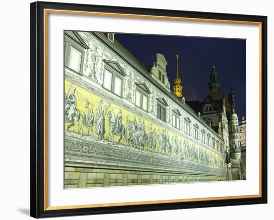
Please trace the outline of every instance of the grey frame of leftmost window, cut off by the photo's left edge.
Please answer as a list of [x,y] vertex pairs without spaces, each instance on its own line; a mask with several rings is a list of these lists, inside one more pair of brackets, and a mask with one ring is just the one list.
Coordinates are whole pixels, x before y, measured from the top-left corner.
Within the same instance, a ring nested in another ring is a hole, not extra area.
[[[64,66],[70,69],[71,71],[73,71],[74,73],[77,73],[82,76],[83,66],[84,66],[84,57],[85,57],[85,48],[82,45],[80,45],[78,42],[76,42],[73,38],[69,37],[68,35],[65,34],[64,36],[65,36],[64,37]],[[74,49],[78,50],[82,54],[79,72],[69,67],[71,47],[74,47]]]

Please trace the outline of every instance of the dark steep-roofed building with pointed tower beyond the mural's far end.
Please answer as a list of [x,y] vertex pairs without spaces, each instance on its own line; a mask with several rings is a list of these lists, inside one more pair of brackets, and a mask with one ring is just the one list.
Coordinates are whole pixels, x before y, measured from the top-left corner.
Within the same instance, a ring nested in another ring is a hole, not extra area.
[[227,155],[227,179],[243,179],[241,163],[241,144],[239,134],[238,115],[235,111],[234,91],[223,94],[216,67],[213,64],[208,83],[208,94],[203,102],[188,101],[187,104],[196,112],[201,112],[201,117],[211,127],[222,135],[224,151]]

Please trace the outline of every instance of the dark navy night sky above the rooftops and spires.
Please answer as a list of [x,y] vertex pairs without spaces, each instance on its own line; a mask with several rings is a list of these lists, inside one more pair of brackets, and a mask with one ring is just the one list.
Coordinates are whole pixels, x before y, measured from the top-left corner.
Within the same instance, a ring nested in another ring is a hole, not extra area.
[[221,92],[230,93],[233,87],[239,120],[246,116],[246,40],[141,34],[115,34],[115,38],[145,66],[153,64],[156,53],[163,54],[171,89],[178,53],[186,101],[205,99],[214,60]]

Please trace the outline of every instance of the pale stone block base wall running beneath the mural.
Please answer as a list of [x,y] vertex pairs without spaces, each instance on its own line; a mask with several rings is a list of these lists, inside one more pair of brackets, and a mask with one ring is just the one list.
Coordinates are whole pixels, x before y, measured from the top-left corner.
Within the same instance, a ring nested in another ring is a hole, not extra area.
[[65,189],[224,181],[225,176],[65,166]]

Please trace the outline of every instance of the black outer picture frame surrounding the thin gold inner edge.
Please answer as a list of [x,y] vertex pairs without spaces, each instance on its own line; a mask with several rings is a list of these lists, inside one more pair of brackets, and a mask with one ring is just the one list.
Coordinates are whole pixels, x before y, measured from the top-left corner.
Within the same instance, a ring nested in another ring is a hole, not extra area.
[[[44,211],[44,9],[126,13],[140,15],[205,18],[261,22],[262,24],[262,197],[228,200],[178,202],[118,207]],[[223,14],[89,5],[58,2],[30,4],[30,216],[34,218],[174,210],[267,203],[267,16]]]

